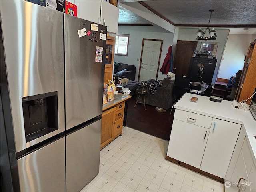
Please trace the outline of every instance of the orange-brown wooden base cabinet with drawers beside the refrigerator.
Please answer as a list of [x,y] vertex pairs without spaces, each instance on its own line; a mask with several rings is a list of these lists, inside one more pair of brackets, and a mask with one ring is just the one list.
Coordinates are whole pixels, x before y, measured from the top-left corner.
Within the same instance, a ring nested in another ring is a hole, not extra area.
[[122,101],[103,111],[100,149],[122,134],[124,105],[125,102]]

